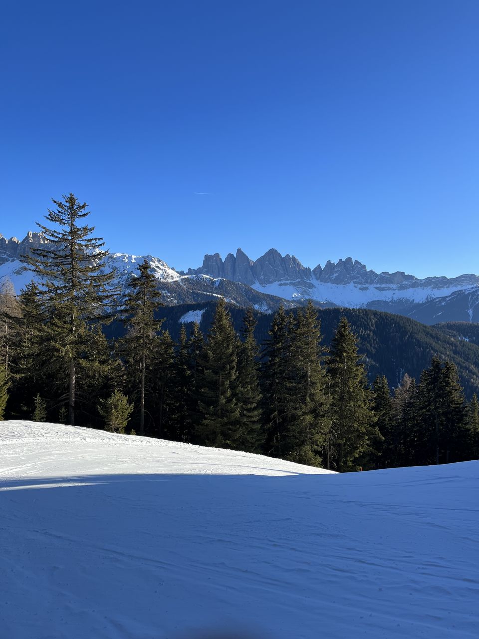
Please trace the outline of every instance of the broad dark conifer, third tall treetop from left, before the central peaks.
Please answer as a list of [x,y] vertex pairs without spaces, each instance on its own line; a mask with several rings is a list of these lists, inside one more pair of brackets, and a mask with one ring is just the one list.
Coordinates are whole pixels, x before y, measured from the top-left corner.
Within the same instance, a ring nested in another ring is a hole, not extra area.
[[223,298],[201,357],[196,429],[199,443],[220,448],[236,448],[239,438],[239,406],[236,394],[238,339]]

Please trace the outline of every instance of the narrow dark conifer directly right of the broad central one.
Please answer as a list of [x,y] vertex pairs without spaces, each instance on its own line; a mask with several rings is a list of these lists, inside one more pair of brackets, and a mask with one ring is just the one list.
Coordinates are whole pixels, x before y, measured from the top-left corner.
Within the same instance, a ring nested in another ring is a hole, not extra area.
[[239,450],[259,452],[264,441],[262,433],[261,391],[259,389],[259,348],[254,337],[256,319],[251,308],[243,317],[241,334],[243,342],[238,346],[238,378],[236,387],[239,403]]

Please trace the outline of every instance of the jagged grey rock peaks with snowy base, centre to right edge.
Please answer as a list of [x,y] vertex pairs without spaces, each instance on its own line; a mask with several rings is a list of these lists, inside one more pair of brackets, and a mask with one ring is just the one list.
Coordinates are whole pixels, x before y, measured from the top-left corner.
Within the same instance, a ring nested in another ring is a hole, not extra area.
[[428,324],[446,319],[479,321],[479,276],[473,274],[418,279],[402,271],[376,273],[351,258],[310,269],[276,249],[255,261],[241,249],[224,261],[218,253],[206,255],[202,266],[188,273],[243,282],[285,300],[390,311]]

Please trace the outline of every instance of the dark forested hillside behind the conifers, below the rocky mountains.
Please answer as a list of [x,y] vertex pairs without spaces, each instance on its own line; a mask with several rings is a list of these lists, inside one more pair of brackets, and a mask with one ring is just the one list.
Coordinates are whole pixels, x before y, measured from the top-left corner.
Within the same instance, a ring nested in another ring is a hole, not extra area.
[[[180,319],[192,311],[204,311],[198,317],[201,316],[202,332],[208,332],[215,307],[215,302],[160,307],[157,317],[164,320],[163,330],[168,330],[176,340],[182,325]],[[239,331],[244,309],[229,305],[229,312],[234,328]],[[291,312],[295,314],[297,309]],[[414,319],[383,311],[322,309],[318,317],[326,346],[331,344],[342,316],[347,318],[358,336],[359,351],[365,356],[364,363],[371,382],[377,374],[385,375],[392,388],[399,384],[404,373],[419,379],[422,370],[436,356],[442,360],[450,360],[457,366],[468,399],[479,392],[479,325],[454,322],[431,327]],[[255,317],[255,339],[262,344],[268,338],[272,315],[255,311]],[[191,323],[189,326],[191,327]],[[105,332],[110,337],[119,337],[122,330],[118,322],[105,327]]]

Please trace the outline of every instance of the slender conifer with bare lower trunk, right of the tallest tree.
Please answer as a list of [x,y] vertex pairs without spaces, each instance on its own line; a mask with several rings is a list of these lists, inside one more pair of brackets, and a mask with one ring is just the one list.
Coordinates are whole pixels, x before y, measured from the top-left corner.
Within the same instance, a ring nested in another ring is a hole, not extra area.
[[146,259],[138,266],[138,269],[139,275],[132,277],[128,285],[129,291],[125,300],[125,317],[123,318],[128,326],[128,332],[122,343],[129,363],[130,376],[136,383],[136,390],[139,393],[139,434],[144,435],[147,378],[151,380],[158,331],[161,327],[161,321],[155,319],[161,294],[158,291],[155,275],[151,273]]

